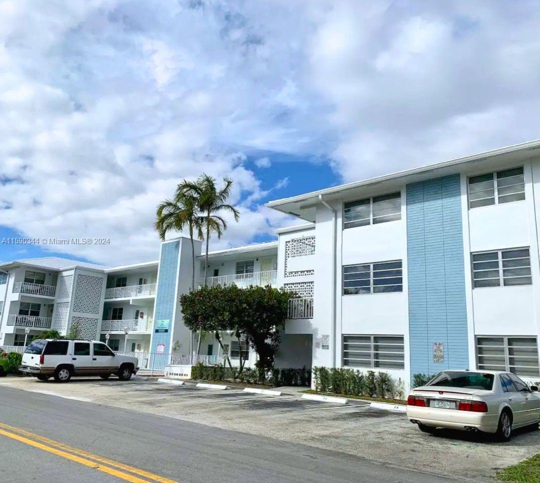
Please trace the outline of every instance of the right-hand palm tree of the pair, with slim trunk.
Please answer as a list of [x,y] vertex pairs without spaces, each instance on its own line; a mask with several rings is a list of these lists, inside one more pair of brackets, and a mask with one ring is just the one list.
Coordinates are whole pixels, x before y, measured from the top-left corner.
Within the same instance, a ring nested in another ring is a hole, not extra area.
[[240,218],[240,212],[234,206],[227,203],[233,182],[228,178],[224,178],[223,182],[225,186],[218,190],[215,186],[215,179],[212,176],[203,173],[197,179],[197,185],[200,190],[198,193],[198,207],[200,212],[199,238],[206,240],[204,264],[205,285],[208,280],[208,243],[210,242],[210,235],[215,233],[219,239],[227,229],[227,222],[220,214],[222,212],[232,213],[235,221],[238,221]]

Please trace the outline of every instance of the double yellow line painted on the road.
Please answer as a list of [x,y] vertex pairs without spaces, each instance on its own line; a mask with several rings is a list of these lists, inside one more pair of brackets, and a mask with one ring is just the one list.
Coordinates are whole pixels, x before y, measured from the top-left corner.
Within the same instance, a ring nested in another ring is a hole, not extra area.
[[114,477],[132,481],[133,483],[149,483],[149,481],[177,483],[176,480],[160,477],[149,471],[140,470],[139,468],[125,465],[118,461],[103,458],[97,454],[79,450],[78,448],[58,443],[58,441],[53,441],[52,439],[44,438],[38,434],[30,433],[14,426],[8,426],[7,424],[0,423],[0,435],[15,439],[16,441],[39,448],[48,453],[56,454],[62,458],[75,461],[89,468],[113,475]]

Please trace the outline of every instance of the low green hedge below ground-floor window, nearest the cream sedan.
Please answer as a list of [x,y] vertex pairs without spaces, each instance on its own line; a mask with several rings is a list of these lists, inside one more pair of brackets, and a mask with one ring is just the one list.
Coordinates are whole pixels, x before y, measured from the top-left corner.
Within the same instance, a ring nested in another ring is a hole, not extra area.
[[313,377],[315,389],[320,392],[391,399],[405,396],[403,381],[392,379],[388,372],[363,373],[354,369],[315,367]]

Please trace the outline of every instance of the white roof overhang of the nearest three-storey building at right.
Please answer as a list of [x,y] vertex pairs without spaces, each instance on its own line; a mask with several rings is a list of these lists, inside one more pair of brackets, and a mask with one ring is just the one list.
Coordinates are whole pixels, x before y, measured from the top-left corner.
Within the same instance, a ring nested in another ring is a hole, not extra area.
[[437,162],[428,166],[421,166],[406,171],[378,176],[363,181],[355,181],[345,185],[334,186],[331,188],[320,189],[291,198],[270,201],[266,203],[268,208],[273,208],[282,213],[298,216],[303,220],[315,221],[315,209],[320,203],[320,196],[323,196],[326,201],[336,199],[354,200],[359,196],[372,196],[380,189],[381,183],[384,183],[384,189],[392,190],[403,184],[413,183],[417,181],[425,181],[428,179],[438,178],[449,174],[459,173],[464,164],[471,164],[471,169],[497,169],[498,162],[508,162],[512,160],[521,160],[523,158],[531,158],[540,156],[540,140],[523,142],[513,146],[494,149],[483,153],[472,154],[463,158],[451,159],[448,161]]

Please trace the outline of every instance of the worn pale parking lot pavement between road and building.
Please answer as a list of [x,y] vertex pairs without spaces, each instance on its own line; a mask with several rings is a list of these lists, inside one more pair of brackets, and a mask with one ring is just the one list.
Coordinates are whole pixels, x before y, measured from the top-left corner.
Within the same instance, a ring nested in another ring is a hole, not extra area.
[[[473,433],[421,433],[403,413],[368,404],[252,394],[240,389],[213,390],[193,384],[167,385],[152,380],[74,378],[69,384],[8,378],[0,384],[30,391],[124,407],[284,441],[341,451],[397,467],[463,477],[491,477],[498,468],[538,452],[539,431],[521,431],[510,443],[496,443]],[[442,457],[443,455],[443,457]],[[456,468],[460,468],[456,474]]]

